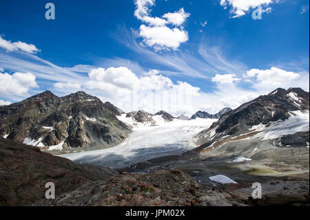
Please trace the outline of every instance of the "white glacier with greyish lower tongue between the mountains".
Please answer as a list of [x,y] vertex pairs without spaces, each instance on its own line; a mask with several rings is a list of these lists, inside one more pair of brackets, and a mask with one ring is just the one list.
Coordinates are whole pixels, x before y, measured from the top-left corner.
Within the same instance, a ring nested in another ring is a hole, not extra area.
[[[120,119],[125,120],[124,117]],[[132,121],[128,121],[130,123]],[[88,163],[96,166],[124,168],[135,163],[158,157],[176,155],[196,148],[194,135],[211,126],[217,119],[195,119],[183,121],[174,119],[165,122],[154,117],[156,126],[147,123],[135,123],[127,139],[113,148],[62,154],[61,157],[76,163]]]

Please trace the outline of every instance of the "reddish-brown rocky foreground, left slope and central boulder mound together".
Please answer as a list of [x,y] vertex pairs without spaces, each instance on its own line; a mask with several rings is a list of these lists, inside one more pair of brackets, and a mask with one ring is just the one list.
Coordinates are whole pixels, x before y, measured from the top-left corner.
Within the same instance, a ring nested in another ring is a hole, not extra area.
[[[48,182],[55,184],[56,199],[45,199]],[[180,170],[118,174],[0,140],[0,206],[208,206],[210,197],[238,204]]]

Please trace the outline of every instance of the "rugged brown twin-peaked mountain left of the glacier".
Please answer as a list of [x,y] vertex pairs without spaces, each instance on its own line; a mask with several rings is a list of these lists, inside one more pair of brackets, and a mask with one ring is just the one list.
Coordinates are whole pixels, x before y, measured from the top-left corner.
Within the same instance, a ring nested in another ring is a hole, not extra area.
[[100,99],[85,92],[59,98],[47,91],[0,107],[1,136],[43,150],[106,148],[129,132]]

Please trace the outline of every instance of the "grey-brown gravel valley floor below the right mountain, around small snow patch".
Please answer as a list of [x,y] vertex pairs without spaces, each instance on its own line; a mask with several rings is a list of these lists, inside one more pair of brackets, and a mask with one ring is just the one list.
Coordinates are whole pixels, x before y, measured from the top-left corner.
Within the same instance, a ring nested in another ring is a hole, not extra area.
[[[234,141],[230,143],[230,147],[240,144],[240,141]],[[229,200],[259,206],[297,203],[309,205],[309,148],[274,149],[273,141],[270,140],[257,140],[257,144],[260,150],[251,157],[251,161],[233,162],[236,156],[228,154],[223,157],[224,148],[216,153],[187,152],[153,159],[121,171],[156,172],[161,169],[178,169],[194,179],[197,178],[198,171],[201,185],[209,190],[219,190]],[[293,155],[291,150],[295,152]],[[209,179],[218,174],[229,177],[237,184],[223,185]],[[256,182],[262,184],[263,199],[259,201],[251,200],[251,186]]]

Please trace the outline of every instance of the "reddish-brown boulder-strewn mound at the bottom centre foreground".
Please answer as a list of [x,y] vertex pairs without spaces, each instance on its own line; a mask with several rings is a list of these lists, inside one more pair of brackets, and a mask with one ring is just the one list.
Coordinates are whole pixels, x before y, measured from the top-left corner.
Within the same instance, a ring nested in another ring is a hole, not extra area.
[[[108,181],[86,183],[40,206],[201,206],[207,190],[180,170],[123,173]],[[74,202],[72,203],[72,198]],[[200,199],[201,198],[201,199]],[[223,199],[223,198],[222,198]]]

